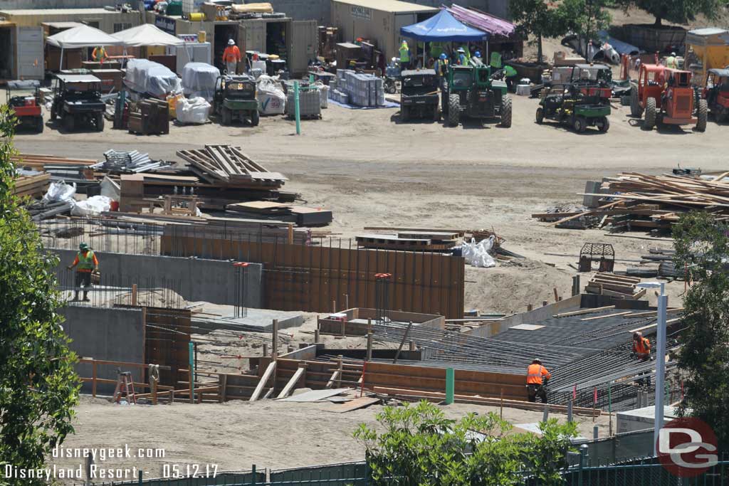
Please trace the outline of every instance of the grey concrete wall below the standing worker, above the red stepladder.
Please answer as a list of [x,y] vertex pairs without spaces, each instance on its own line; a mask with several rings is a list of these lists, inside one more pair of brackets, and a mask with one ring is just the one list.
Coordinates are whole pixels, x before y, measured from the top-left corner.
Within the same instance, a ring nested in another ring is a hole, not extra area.
[[[101,361],[127,361],[144,363],[144,321],[141,309],[101,309],[68,305],[59,311],[66,322],[63,330],[71,338],[70,348],[79,358],[94,358]],[[123,368],[132,373],[133,380],[141,383],[144,377],[139,368]],[[93,376],[91,364],[77,364],[80,377]],[[117,367],[100,364],[96,377],[117,380]],[[97,393],[111,395],[114,384],[98,383]],[[137,390],[142,393],[141,390]],[[82,393],[91,393],[91,383],[82,385]]]

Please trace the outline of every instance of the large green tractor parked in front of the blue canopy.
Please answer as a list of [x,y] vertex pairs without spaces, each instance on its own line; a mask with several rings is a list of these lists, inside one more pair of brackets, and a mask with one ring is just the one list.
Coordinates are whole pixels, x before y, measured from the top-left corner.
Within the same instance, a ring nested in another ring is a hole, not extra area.
[[451,127],[461,117],[500,119],[499,125],[511,127],[511,97],[506,82],[494,79],[500,71],[491,73],[483,63],[470,66],[449,66],[448,79],[441,93],[441,111]]

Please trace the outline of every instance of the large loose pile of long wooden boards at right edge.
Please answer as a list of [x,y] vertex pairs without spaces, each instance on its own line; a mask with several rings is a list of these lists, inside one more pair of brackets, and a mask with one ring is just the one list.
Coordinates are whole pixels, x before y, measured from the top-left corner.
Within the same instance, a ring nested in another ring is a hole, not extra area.
[[[571,213],[537,213],[532,217],[554,220],[553,226],[564,226],[574,219],[590,216],[594,225],[609,224],[614,230],[670,230],[682,213],[708,211],[717,220],[729,219],[729,172],[715,176],[674,175],[648,176],[624,172],[606,178],[599,196],[611,201],[599,208]],[[607,192],[609,194],[604,194]],[[605,202],[602,200],[601,202]],[[592,219],[594,218],[594,219]]]

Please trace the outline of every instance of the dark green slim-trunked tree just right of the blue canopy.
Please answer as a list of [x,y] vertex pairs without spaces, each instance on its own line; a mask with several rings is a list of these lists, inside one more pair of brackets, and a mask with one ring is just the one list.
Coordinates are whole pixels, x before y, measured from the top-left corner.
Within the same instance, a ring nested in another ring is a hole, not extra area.
[[537,38],[537,61],[542,62],[542,38],[557,37],[567,33],[558,8],[545,0],[511,0],[509,10],[518,24],[521,35]]

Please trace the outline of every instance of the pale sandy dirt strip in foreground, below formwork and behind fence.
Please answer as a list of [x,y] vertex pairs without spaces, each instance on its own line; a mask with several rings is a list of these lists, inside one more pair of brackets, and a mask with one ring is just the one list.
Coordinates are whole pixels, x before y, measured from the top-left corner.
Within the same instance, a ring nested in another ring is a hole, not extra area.
[[[359,423],[376,426],[375,415],[383,408],[373,405],[346,413],[332,413],[334,404],[284,401],[229,401],[225,404],[174,404],[120,406],[104,399],[83,397],[74,420],[76,434],[63,447],[124,447],[131,458],[109,458],[100,468],[138,466],[144,477],[160,477],[164,464],[217,464],[219,471],[286,469],[316,464],[364,459],[364,447],[352,433]],[[499,407],[452,404],[442,407],[448,418],[467,412],[499,414]],[[542,412],[504,409],[504,420],[512,424],[536,423]],[[565,415],[551,415],[564,423]],[[608,415],[596,418],[575,416],[579,434],[607,436]],[[615,430],[615,416],[612,418]],[[517,430],[518,431],[518,430]],[[164,457],[139,458],[139,449],[161,449]],[[59,467],[79,466],[77,458],[52,460]],[[81,460],[82,463],[82,460]],[[133,479],[133,478],[129,478]]]

